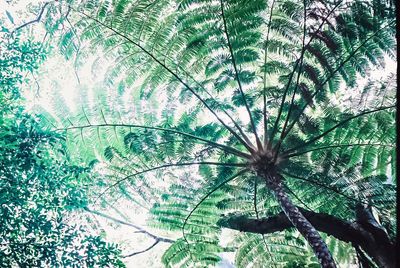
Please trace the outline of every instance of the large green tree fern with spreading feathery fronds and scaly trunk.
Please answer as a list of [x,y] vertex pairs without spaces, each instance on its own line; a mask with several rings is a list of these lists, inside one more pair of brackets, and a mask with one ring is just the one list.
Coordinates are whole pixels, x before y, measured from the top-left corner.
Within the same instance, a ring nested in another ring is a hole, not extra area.
[[[62,52],[79,65],[102,48],[112,62],[104,91],[97,91],[101,105],[60,118],[61,130],[82,137],[80,156],[104,150],[111,181],[101,197],[133,187],[156,202],[154,225],[182,230],[164,254],[167,265],[218,262],[221,226],[262,233],[257,243],[272,260],[268,239],[278,238],[259,224],[278,217],[288,222],[276,231],[294,226],[322,267],[336,267],[316,225],[332,234],[329,220],[347,224],[368,215],[385,234],[385,248],[349,241],[361,260],[394,266],[387,234],[394,213],[393,77],[371,79],[357,92],[361,77],[395,57],[391,1],[59,5],[67,14]],[[134,98],[127,105],[124,96]],[[200,176],[178,172],[191,166]],[[154,172],[164,172],[167,193],[151,187]],[[315,220],[321,215],[332,218]]]

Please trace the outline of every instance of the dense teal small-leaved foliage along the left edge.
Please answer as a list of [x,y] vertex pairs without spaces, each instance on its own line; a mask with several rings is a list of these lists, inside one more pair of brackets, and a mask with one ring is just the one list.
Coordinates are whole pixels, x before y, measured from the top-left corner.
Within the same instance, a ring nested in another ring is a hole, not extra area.
[[116,245],[73,219],[87,204],[90,169],[72,165],[65,137],[23,108],[24,75],[46,51],[19,36],[2,36],[0,51],[0,265],[124,267]]

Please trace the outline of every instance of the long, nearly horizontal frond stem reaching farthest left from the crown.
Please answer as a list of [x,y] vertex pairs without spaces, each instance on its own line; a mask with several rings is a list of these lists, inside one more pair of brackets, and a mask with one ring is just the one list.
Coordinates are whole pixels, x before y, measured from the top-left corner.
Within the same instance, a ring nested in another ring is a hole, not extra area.
[[170,128],[162,128],[162,127],[153,127],[153,126],[143,126],[143,125],[129,125],[129,124],[93,124],[93,125],[84,125],[84,126],[71,126],[67,128],[61,128],[61,129],[56,129],[56,131],[65,131],[65,130],[72,130],[72,129],[84,129],[84,128],[92,128],[92,127],[128,127],[128,128],[143,128],[143,129],[152,129],[152,130],[157,130],[157,131],[165,131],[165,132],[170,132],[170,133],[175,133],[178,135],[182,135],[188,138],[192,138],[195,140],[200,140],[203,141],[207,144],[214,145],[215,147],[221,148],[226,152],[232,153],[236,156],[239,156],[244,159],[249,159],[251,156],[249,154],[243,153],[233,147],[223,145],[217,142],[213,142],[195,135],[191,135],[185,132],[181,132],[179,130],[175,129],[170,129]]

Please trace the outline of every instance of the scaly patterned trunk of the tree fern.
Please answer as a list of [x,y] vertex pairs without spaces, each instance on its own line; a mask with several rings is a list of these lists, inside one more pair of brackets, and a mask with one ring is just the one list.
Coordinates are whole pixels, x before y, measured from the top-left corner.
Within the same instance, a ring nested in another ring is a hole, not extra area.
[[329,252],[324,240],[301,214],[299,209],[292,203],[289,196],[282,187],[281,178],[278,174],[266,177],[267,186],[274,192],[283,212],[290,222],[308,241],[322,267],[336,268],[332,254]]

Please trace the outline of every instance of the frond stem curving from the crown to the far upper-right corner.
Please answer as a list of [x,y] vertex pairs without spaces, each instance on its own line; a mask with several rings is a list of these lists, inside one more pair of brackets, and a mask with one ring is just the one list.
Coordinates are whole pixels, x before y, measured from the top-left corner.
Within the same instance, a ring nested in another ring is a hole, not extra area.
[[[375,31],[370,37],[368,37],[367,39],[365,39],[355,50],[353,50],[350,55],[344,60],[342,61],[339,66],[333,71],[331,72],[331,74],[325,79],[324,82],[322,82],[319,87],[317,88],[317,90],[311,95],[311,100],[314,99],[314,97],[323,89],[324,85],[326,83],[328,83],[330,81],[330,79],[333,78],[333,76],[351,59],[354,57],[354,55],[357,53],[358,50],[360,50],[369,40],[371,40],[372,38],[374,38],[381,30],[391,26],[395,21],[391,21],[390,23],[388,23],[388,25],[380,28],[379,30]],[[303,106],[301,112],[297,115],[297,117],[295,118],[295,120],[292,122],[292,124],[290,124],[290,126],[288,127],[288,129],[286,130],[286,133],[284,133],[283,138],[285,139],[285,137],[287,136],[287,134],[290,132],[290,130],[294,127],[294,125],[299,121],[301,115],[304,113],[304,111],[307,109],[307,107],[309,106],[309,104],[311,103],[311,101],[306,102],[306,104]]]

